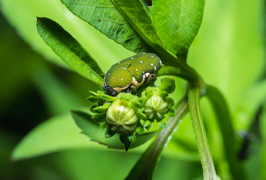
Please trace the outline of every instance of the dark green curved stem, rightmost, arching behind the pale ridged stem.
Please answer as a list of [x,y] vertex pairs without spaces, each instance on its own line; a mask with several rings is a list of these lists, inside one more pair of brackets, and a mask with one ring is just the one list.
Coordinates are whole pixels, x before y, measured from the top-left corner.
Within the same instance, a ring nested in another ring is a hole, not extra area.
[[216,113],[219,127],[222,133],[225,156],[228,160],[233,179],[246,179],[243,165],[237,159],[237,141],[231,123],[231,117],[227,108],[226,101],[220,91],[210,85],[206,86],[206,95]]

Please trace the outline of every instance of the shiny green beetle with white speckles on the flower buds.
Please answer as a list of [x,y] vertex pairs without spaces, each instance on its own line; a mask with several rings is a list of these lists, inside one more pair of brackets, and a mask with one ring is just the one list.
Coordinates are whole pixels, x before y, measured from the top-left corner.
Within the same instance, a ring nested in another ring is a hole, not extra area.
[[106,72],[103,90],[112,96],[119,92],[135,91],[142,84],[156,77],[162,66],[161,59],[154,53],[141,52],[114,65]]

